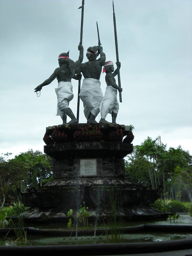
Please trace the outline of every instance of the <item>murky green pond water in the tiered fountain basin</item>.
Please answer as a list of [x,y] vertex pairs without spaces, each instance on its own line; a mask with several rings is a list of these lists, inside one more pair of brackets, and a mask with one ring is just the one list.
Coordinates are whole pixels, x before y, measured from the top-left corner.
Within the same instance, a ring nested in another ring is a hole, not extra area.
[[[157,225],[192,225],[192,217],[189,215],[180,215],[178,222],[173,223],[168,219],[164,221],[130,221],[124,223],[125,227],[133,227],[141,224],[157,224]],[[32,226],[32,225],[31,225]],[[67,224],[48,224],[48,225],[33,225],[38,229],[67,229]],[[90,229],[94,229],[94,225],[89,226]],[[81,229],[81,227],[78,227]],[[25,245],[81,245],[81,244],[101,244],[101,243],[116,243],[117,241],[107,240],[105,235],[96,236],[94,232],[92,235],[77,236],[77,239],[74,236],[40,236],[40,235],[28,235],[27,243]],[[192,238],[192,234],[189,232],[170,232],[162,231],[152,232],[152,231],[132,231],[130,234],[124,234],[123,239],[118,242],[121,243],[137,243],[137,242],[153,242],[153,241],[170,241],[175,239],[183,238]],[[0,235],[0,245],[15,246],[18,245],[18,242],[15,242],[15,236],[2,236]]]

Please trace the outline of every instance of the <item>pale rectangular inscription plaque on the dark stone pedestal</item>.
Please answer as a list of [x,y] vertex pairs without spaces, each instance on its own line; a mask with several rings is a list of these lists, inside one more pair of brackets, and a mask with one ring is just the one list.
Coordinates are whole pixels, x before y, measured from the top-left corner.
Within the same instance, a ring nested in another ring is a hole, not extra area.
[[96,159],[80,159],[80,175],[96,176],[97,175]]

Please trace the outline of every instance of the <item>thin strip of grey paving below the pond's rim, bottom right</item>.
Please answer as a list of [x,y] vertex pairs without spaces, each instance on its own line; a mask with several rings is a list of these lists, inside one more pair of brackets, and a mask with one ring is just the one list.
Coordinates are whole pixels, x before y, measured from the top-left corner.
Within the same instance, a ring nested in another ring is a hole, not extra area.
[[[151,252],[151,253],[136,253],[136,254],[119,254],[111,256],[192,256],[192,249],[169,251],[169,252]],[[109,255],[102,255],[109,256]]]

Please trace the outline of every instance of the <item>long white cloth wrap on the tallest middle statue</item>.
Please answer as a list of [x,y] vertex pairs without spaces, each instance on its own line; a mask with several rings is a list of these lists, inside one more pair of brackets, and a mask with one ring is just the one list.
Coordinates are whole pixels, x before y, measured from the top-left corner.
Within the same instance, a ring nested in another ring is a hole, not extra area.
[[90,112],[94,116],[97,116],[100,111],[100,103],[103,99],[101,82],[95,78],[83,79],[79,97],[83,101],[84,115],[86,119],[88,119]]

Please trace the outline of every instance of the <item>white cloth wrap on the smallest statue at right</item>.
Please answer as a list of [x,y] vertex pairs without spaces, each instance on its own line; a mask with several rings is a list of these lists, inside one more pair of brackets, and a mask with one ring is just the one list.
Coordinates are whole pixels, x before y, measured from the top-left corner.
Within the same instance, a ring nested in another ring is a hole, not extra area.
[[100,104],[101,118],[105,119],[108,113],[118,113],[119,103],[117,101],[117,89],[111,85],[106,87],[105,95]]

